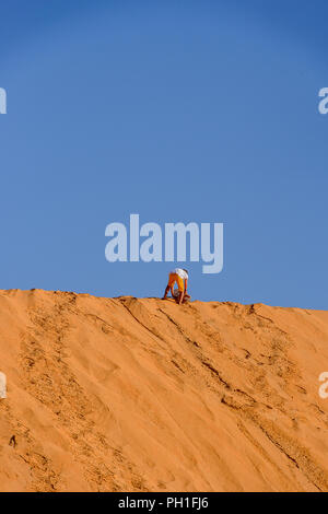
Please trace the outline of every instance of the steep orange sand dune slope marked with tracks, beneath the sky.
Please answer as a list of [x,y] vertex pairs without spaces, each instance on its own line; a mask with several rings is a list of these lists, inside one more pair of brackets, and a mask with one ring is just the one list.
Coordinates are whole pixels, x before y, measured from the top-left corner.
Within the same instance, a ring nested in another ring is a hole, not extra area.
[[328,312],[1,291],[0,371],[1,491],[328,491]]

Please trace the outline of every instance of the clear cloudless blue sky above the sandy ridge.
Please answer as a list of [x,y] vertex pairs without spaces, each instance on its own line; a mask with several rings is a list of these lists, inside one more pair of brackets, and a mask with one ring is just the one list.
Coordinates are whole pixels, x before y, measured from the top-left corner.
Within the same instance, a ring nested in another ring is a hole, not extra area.
[[[11,0],[0,12],[1,289],[163,294],[105,227],[224,223],[200,300],[328,308],[326,0]],[[173,265],[174,266],[174,265]]]

